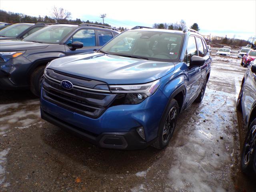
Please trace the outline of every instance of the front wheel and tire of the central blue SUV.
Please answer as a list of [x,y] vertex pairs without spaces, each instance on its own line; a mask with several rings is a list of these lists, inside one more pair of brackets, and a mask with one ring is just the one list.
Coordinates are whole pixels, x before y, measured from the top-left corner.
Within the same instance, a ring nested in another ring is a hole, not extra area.
[[174,130],[176,128],[176,122],[179,114],[178,102],[172,99],[164,111],[159,129],[158,137],[152,146],[157,149],[164,149],[170,142]]

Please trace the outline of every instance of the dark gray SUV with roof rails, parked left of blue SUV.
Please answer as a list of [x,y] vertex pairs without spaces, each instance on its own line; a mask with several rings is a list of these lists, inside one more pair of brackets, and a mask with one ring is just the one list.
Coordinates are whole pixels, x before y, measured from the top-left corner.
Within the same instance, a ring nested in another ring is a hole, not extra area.
[[119,33],[94,24],[53,24],[23,40],[0,41],[0,89],[30,88],[39,96],[40,79],[48,62],[99,50]]

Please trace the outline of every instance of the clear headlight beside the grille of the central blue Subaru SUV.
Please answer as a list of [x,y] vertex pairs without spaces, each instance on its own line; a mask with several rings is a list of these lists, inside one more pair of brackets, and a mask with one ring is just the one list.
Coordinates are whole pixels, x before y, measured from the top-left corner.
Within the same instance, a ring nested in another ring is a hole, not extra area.
[[123,94],[123,104],[138,104],[156,92],[160,86],[160,79],[137,85],[110,85],[110,91],[113,93],[126,93]]

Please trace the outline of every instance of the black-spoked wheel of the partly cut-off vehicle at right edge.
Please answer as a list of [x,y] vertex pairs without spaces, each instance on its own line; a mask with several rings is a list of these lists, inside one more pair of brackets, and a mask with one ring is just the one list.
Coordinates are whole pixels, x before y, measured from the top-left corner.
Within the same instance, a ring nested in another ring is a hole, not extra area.
[[256,118],[250,124],[244,141],[241,155],[242,172],[247,175],[253,174],[253,164],[256,159]]

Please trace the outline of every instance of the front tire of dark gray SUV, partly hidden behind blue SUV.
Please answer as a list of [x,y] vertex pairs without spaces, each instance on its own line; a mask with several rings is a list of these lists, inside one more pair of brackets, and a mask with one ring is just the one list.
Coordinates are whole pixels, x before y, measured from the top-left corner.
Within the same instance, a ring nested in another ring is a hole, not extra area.
[[44,74],[44,68],[45,66],[36,68],[30,76],[30,91],[38,97],[41,92],[40,80]]

